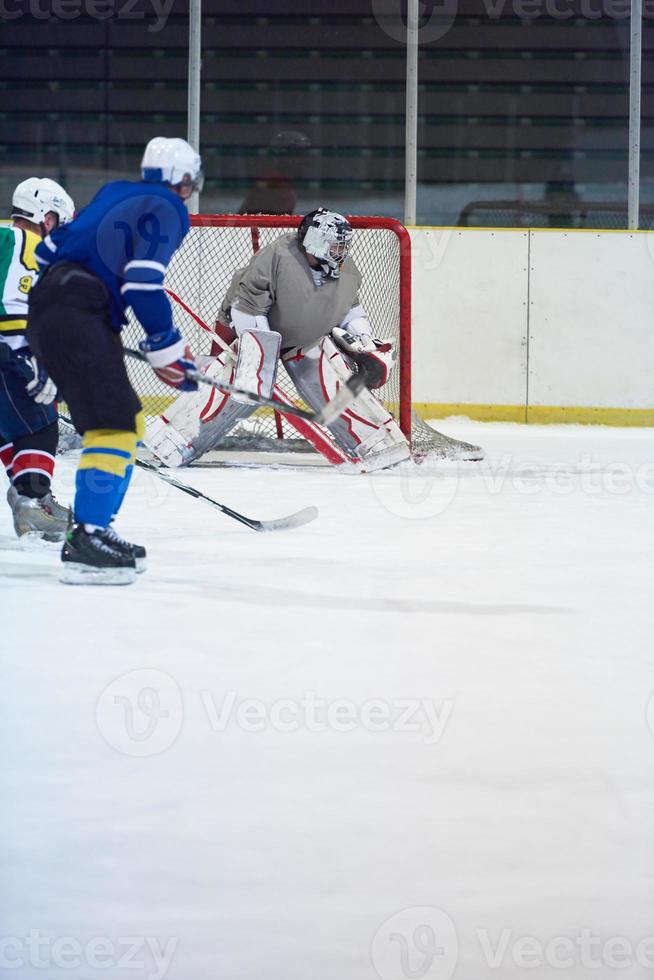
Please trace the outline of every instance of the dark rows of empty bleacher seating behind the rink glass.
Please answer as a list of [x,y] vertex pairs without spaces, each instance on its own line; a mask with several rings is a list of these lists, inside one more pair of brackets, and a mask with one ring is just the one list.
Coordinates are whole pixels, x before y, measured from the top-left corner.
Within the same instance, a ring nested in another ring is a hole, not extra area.
[[[488,0],[461,0],[444,36],[421,45],[421,182],[565,188],[626,180],[628,22],[584,17],[581,0],[574,2],[570,19],[543,11],[521,20],[508,0],[501,17],[489,16]],[[273,135],[300,130],[311,146],[295,170],[298,188],[401,190],[403,45],[380,28],[369,0],[327,6],[277,0],[271,15],[269,0],[205,0],[209,189],[245,192],[266,170]],[[145,0],[132,13],[154,21]],[[72,166],[128,171],[149,136],[185,131],[185,4],[175,3],[161,30],[135,31],[134,23],[24,16],[4,28],[3,170],[29,155],[60,175]],[[643,71],[647,176],[654,171],[652,21],[645,22]]]

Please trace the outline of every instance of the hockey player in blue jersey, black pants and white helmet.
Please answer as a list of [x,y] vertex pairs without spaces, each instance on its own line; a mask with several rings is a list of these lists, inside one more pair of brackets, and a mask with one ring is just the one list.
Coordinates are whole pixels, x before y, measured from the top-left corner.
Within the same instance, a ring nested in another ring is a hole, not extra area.
[[197,388],[187,378],[196,365],[163,280],[189,228],[184,201],[201,189],[200,157],[185,140],[157,137],[141,172],[140,181],[105,184],[36,249],[43,271],[30,296],[30,344],[83,436],[74,520],[62,549],[68,584],[127,584],[145,566],[145,549],[111,526],[144,428],[120,340],[128,306],[158,377],[181,391]]

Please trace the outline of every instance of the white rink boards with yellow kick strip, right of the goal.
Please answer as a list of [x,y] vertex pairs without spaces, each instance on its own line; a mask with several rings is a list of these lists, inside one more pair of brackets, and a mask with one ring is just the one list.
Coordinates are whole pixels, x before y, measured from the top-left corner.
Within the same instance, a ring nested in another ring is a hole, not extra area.
[[420,414],[654,425],[654,233],[411,239]]

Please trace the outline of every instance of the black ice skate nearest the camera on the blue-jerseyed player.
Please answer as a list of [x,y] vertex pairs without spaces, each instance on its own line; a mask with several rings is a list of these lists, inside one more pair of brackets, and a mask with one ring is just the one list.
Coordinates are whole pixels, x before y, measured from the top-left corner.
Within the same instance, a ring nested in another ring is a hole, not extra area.
[[87,531],[72,524],[61,550],[59,580],[66,585],[130,585],[136,580],[133,555],[118,550],[106,529]]

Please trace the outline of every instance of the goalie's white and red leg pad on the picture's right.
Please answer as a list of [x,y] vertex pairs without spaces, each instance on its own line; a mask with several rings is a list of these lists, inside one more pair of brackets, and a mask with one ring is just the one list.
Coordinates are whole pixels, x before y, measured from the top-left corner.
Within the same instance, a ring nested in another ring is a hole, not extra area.
[[[302,398],[314,411],[334,397],[352,369],[330,337],[317,347],[297,348],[284,366]],[[370,472],[410,459],[409,444],[399,425],[375,396],[364,389],[350,408],[329,426],[336,443]]]

